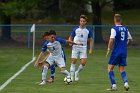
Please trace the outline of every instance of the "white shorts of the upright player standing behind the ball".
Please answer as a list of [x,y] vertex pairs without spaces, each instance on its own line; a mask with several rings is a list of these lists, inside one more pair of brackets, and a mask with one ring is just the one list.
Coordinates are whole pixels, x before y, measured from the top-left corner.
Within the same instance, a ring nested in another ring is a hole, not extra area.
[[73,46],[71,58],[77,59],[78,56],[80,57],[80,59],[87,58],[87,47]]

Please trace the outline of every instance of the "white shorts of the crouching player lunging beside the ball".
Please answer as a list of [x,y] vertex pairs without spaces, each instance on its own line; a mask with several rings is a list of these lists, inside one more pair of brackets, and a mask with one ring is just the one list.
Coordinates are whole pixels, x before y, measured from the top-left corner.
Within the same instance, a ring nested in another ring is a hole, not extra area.
[[59,68],[66,66],[64,58],[62,56],[49,55],[49,57],[46,59],[46,62],[49,63],[50,66],[56,63]]

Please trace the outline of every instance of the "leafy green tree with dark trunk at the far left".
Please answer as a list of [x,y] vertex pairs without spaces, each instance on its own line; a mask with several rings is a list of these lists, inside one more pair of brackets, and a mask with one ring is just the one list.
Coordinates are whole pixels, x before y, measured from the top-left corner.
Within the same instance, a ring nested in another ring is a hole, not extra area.
[[20,15],[26,15],[28,11],[37,7],[39,0],[1,0],[0,1],[0,20],[2,26],[1,40],[10,41],[11,20]]

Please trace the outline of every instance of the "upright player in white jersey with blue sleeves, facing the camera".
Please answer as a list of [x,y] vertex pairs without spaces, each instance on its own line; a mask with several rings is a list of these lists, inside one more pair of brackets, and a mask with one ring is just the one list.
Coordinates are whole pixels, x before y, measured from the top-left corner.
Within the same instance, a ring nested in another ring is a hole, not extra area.
[[[75,43],[81,43],[83,46],[73,45],[72,46],[72,62],[70,67],[71,79],[72,81],[79,80],[79,72],[83,70],[87,62],[87,41],[89,39],[90,49],[89,54],[92,53],[93,39],[92,32],[86,28],[87,17],[85,15],[80,16],[80,25],[77,28],[74,28],[72,31],[69,40],[74,41]],[[77,71],[75,71],[75,65],[78,56],[80,56],[81,64],[79,65]]]

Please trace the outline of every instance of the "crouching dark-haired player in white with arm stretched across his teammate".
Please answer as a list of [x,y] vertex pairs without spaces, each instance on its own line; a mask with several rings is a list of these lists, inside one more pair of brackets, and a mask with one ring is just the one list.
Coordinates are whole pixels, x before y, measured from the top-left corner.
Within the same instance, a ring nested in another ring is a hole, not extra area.
[[[58,39],[55,40],[56,38],[56,33],[55,31],[50,31],[50,36],[49,36],[49,41],[46,41],[42,47],[42,55],[44,52],[48,49],[50,55],[48,56],[47,60],[45,63],[43,63],[43,72],[42,72],[42,82],[39,85],[44,85],[46,84],[46,76],[47,76],[47,71],[52,66],[54,63],[57,64],[57,66],[60,68],[61,73],[65,74],[66,76],[69,75],[69,72],[65,70],[65,62],[64,58],[62,55],[62,47],[61,43],[72,43],[76,44],[72,41],[69,40],[63,40],[63,39]],[[39,56],[37,61],[35,62],[35,66],[38,66],[39,64],[39,59],[42,57],[42,55]]]

